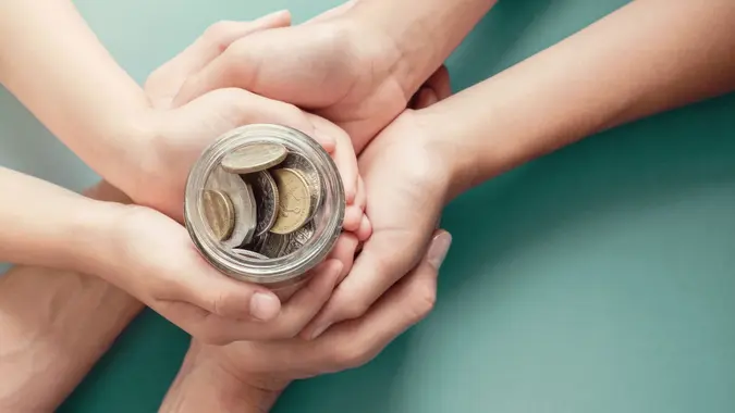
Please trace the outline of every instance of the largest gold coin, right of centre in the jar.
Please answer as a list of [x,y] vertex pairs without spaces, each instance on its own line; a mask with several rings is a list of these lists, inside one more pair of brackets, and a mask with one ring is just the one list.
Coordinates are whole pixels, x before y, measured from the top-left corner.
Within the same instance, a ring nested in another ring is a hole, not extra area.
[[302,173],[281,168],[271,171],[279,192],[279,208],[275,223],[270,228],[274,234],[291,234],[301,228],[311,212],[309,185]]

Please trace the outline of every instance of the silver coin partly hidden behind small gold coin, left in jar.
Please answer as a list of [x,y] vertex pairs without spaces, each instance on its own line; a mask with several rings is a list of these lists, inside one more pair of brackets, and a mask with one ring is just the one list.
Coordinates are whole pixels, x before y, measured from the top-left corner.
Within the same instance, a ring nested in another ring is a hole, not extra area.
[[217,167],[209,175],[206,189],[219,190],[228,195],[234,206],[234,227],[232,235],[222,241],[226,248],[235,248],[250,242],[257,223],[255,197],[250,186],[240,178]]

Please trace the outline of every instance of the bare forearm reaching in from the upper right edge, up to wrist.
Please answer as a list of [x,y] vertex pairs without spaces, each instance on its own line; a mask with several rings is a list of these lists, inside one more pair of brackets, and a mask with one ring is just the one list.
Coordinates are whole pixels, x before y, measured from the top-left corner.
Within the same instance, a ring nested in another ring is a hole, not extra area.
[[596,132],[732,91],[732,22],[731,0],[638,0],[421,111],[460,162],[454,192]]

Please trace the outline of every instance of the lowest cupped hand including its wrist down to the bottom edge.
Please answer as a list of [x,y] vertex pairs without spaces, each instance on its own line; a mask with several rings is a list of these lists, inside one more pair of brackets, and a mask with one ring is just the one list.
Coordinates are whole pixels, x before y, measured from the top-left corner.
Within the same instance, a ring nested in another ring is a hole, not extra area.
[[431,252],[368,313],[330,328],[316,340],[246,341],[223,347],[194,340],[160,411],[196,412],[212,403],[222,411],[237,404],[236,411],[244,406],[267,411],[291,380],[367,363],[431,311],[444,256],[441,250],[449,247],[441,240],[448,237],[438,230]]

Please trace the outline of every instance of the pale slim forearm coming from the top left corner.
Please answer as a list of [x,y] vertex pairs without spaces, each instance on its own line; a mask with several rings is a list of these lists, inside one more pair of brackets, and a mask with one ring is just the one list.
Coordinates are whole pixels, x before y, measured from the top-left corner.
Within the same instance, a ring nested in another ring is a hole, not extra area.
[[95,171],[125,173],[112,161],[135,157],[148,102],[70,0],[0,2],[0,84]]

